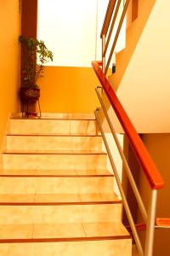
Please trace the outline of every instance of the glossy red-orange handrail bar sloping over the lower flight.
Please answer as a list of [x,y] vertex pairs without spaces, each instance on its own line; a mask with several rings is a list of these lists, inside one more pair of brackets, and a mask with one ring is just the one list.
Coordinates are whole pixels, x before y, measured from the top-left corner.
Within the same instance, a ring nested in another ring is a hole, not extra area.
[[137,131],[134,129],[131,120],[127,116],[127,113],[125,112],[124,108],[122,108],[122,104],[118,100],[116,93],[112,89],[108,79],[105,77],[105,73],[102,72],[102,69],[99,67],[99,63],[97,61],[93,61],[92,66],[94,67],[94,71],[99,79],[99,82],[105,90],[105,94],[108,96],[108,99],[111,102],[112,108],[115,110],[116,116],[119,119],[123,130],[127,134],[129,143],[131,144],[133,151],[139,160],[139,164],[142,167],[148,182],[150,183],[150,188],[162,189],[164,181],[161,174],[158,172],[155,163],[151,159],[150,154],[145,148],[144,143],[140,139]]

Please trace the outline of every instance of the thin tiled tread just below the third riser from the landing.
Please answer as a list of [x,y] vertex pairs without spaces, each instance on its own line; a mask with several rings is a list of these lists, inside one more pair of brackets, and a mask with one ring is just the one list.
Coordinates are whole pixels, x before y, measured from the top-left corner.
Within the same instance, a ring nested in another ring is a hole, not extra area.
[[0,177],[96,177],[113,176],[107,170],[0,170]]

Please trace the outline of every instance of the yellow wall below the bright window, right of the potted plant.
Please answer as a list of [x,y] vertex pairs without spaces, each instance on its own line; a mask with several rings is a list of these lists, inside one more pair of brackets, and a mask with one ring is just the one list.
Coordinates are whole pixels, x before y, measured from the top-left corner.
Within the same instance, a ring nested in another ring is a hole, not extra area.
[[91,67],[46,67],[38,84],[42,112],[90,113],[99,106]]

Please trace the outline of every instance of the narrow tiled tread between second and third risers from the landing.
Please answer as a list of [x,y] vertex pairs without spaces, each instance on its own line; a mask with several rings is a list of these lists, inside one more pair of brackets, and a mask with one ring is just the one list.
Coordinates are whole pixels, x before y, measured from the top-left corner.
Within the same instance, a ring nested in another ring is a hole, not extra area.
[[106,154],[101,150],[5,150],[3,154]]

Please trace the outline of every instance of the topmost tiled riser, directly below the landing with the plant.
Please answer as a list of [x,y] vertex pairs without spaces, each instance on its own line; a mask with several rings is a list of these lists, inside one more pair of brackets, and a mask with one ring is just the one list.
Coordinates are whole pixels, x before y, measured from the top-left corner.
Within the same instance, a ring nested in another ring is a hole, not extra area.
[[84,134],[96,135],[95,120],[10,119],[10,134]]

